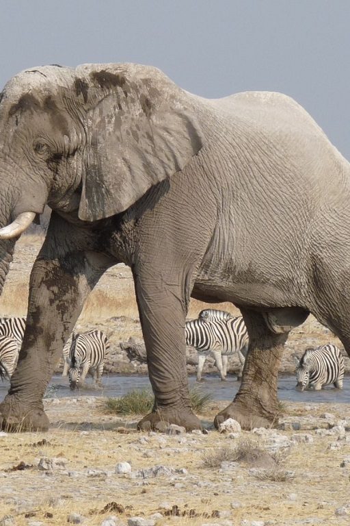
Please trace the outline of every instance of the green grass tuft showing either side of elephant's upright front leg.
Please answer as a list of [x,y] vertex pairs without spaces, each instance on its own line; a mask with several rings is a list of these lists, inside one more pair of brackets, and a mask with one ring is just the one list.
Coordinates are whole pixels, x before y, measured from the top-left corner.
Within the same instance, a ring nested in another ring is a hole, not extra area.
[[[202,395],[198,388],[189,392],[191,407],[195,412],[201,412],[211,403],[213,397],[210,394]],[[153,393],[149,389],[131,390],[120,398],[107,398],[101,403],[103,412],[113,414],[148,414],[152,411],[154,404]]]

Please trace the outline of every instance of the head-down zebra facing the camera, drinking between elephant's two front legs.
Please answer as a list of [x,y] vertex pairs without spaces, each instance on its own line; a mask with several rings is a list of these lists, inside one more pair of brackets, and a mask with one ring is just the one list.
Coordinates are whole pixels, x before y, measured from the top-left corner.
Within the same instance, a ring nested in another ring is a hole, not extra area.
[[[71,390],[75,390],[80,379],[83,384],[89,371],[94,376],[95,384],[100,385],[108,349],[109,342],[102,331],[92,330],[83,334],[73,334],[68,372]],[[83,369],[80,373],[81,367]]]

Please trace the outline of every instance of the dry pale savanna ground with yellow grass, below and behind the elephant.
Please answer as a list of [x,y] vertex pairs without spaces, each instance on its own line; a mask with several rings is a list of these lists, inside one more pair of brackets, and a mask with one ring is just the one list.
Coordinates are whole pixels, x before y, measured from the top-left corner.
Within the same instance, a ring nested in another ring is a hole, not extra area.
[[[38,236],[18,242],[1,315],[25,315],[39,247]],[[202,308],[191,301],[189,317]],[[232,305],[219,308],[235,312]],[[141,338],[128,268],[112,268],[92,292],[78,327],[92,326],[109,331],[112,347]],[[289,338],[284,371],[292,352],[336,341],[310,317]],[[46,434],[0,436],[0,525],[64,525],[68,518],[86,526],[131,525],[134,516],[157,525],[350,524],[345,404],[285,403],[280,429],[219,434],[213,417],[227,403],[211,402],[200,414],[208,433],[180,435],[138,432],[140,415],[106,414],[99,398],[44,404],[52,424]],[[116,473],[120,462],[129,462],[131,472]]]

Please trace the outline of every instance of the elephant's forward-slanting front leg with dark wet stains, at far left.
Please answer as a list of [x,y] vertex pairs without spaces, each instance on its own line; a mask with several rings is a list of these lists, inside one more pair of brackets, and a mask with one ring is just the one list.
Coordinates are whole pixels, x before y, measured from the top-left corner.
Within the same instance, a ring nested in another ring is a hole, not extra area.
[[42,398],[64,343],[103,272],[114,263],[96,253],[86,227],[53,212],[44,245],[31,270],[25,337],[8,395],[0,404],[0,427],[46,430]]

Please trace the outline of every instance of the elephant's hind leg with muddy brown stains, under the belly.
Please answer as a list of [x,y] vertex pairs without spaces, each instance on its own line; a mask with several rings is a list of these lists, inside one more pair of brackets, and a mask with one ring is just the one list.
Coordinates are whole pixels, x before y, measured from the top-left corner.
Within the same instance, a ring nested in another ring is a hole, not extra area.
[[243,429],[278,423],[278,370],[288,333],[273,334],[258,312],[243,310],[250,337],[241,386],[234,401],[215,417],[215,426],[234,418]]

